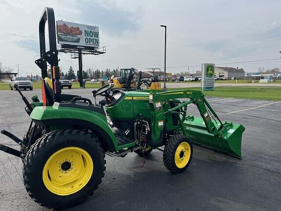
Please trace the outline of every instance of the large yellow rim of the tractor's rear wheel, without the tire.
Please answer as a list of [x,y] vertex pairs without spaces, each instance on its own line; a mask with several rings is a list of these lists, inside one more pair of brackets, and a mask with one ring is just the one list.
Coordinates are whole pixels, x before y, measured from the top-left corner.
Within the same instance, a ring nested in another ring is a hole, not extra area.
[[93,160],[84,149],[62,148],[52,154],[45,163],[43,183],[56,195],[70,195],[86,186],[93,169]]

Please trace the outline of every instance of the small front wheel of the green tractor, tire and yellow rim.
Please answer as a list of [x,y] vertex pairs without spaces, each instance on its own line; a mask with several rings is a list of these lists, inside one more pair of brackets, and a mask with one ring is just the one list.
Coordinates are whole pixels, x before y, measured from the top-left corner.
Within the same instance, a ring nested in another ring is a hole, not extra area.
[[173,135],[164,148],[163,161],[172,173],[181,173],[187,169],[192,160],[193,147],[188,137]]

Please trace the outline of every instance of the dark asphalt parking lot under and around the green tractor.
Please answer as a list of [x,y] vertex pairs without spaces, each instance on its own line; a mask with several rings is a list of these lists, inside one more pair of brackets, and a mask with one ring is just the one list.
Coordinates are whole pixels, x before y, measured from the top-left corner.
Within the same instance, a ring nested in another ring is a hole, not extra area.
[[[92,99],[90,89],[64,90]],[[41,90],[23,91],[28,99]],[[83,204],[69,211],[281,211],[281,102],[207,98],[222,121],[242,124],[243,159],[195,146],[191,166],[170,173],[162,152],[142,158],[106,156],[102,184]],[[264,105],[264,106],[263,106]],[[250,108],[250,109],[249,109]],[[195,113],[195,106],[189,106]],[[17,91],[0,91],[0,129],[22,137],[29,117]],[[16,144],[0,135],[0,141]],[[47,211],[28,196],[22,161],[0,151],[0,210]]]

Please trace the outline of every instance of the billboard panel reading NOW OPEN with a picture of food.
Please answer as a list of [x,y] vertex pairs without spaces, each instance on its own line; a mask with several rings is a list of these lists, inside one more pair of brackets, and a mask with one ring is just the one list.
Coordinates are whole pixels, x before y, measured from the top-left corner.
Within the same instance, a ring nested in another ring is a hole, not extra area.
[[57,21],[57,36],[59,44],[75,46],[99,47],[99,27]]

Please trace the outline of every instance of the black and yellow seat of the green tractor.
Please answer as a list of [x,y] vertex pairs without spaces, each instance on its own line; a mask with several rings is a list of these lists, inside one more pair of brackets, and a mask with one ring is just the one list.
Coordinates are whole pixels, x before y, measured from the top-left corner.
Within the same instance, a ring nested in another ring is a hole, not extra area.
[[[44,78],[44,86],[45,86],[45,95],[47,100],[47,105],[54,104],[54,95],[53,95],[53,84],[52,80],[49,78]],[[57,94],[56,101],[57,102],[69,102],[73,98],[79,97],[78,95],[69,95],[69,94]]]

